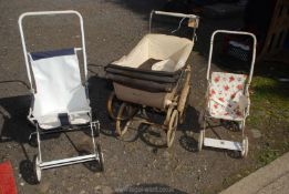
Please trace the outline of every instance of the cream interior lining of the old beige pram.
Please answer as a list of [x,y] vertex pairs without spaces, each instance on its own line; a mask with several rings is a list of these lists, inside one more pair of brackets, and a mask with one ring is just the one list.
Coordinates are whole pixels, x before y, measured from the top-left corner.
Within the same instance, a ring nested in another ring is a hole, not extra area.
[[148,59],[155,59],[161,61],[152,65],[153,71],[175,72],[186,64],[193,44],[186,38],[149,33],[127,55],[112,64],[138,68]]

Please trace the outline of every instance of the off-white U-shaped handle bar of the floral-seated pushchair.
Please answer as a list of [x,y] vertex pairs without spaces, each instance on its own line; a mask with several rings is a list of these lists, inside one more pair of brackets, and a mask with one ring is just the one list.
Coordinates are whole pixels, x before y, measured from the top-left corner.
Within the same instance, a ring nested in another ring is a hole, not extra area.
[[214,39],[217,33],[227,33],[227,34],[239,34],[239,35],[249,35],[252,38],[252,59],[251,59],[251,67],[250,67],[250,73],[248,79],[248,84],[251,82],[252,72],[254,72],[254,65],[256,60],[256,45],[257,45],[257,39],[254,33],[245,32],[245,31],[230,31],[230,30],[216,30],[213,32],[210,37],[210,47],[209,47],[209,58],[208,58],[208,69],[207,69],[207,80],[209,80],[209,72],[210,72],[210,64],[211,64],[211,57],[213,57],[213,49],[214,49]]

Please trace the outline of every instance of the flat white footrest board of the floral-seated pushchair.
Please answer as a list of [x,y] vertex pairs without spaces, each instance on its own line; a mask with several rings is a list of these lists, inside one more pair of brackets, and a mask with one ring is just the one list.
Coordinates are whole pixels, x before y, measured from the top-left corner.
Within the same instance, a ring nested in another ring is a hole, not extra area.
[[216,139],[204,139],[204,145],[217,149],[226,149],[233,151],[242,151],[242,144],[240,142],[233,142],[227,140],[216,140]]

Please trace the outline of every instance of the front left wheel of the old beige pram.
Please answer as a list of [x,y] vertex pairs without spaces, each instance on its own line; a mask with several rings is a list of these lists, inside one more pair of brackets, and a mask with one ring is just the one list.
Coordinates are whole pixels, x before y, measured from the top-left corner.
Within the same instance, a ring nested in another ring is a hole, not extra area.
[[116,118],[116,133],[123,136],[131,124],[131,118],[136,113],[137,109],[125,102],[122,103]]

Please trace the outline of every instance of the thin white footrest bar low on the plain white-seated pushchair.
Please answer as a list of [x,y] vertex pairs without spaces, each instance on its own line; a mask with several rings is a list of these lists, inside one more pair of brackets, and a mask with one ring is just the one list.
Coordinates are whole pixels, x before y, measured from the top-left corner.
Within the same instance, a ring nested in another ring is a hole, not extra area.
[[45,169],[59,167],[59,166],[84,163],[89,161],[97,161],[97,160],[99,160],[97,154],[89,154],[89,155],[81,155],[81,156],[62,159],[56,161],[42,162],[39,164],[39,166],[41,170],[45,170]]

